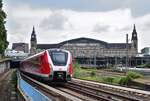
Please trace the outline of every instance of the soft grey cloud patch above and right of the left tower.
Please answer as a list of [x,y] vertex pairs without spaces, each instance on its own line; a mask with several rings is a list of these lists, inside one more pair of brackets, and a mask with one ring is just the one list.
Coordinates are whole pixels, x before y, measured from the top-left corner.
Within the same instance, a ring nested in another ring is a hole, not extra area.
[[48,18],[45,18],[41,23],[40,27],[44,29],[63,30],[65,23],[68,19],[61,14],[61,12],[54,12]]

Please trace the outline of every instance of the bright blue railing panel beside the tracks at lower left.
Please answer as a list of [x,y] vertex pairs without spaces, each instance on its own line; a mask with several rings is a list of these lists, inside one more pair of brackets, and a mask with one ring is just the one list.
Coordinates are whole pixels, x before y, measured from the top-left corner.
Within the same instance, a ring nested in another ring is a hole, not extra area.
[[24,97],[25,101],[52,101],[47,96],[39,92],[37,89],[23,80],[18,72],[18,90]]

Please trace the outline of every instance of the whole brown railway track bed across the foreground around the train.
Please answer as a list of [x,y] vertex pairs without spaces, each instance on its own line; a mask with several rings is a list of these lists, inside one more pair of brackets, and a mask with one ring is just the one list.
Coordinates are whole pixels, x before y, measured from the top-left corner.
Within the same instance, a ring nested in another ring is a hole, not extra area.
[[145,93],[135,93],[131,90],[128,91],[76,79],[63,85],[53,86],[39,83],[25,75],[23,75],[23,78],[47,96],[50,94],[54,99],[61,98],[61,100],[57,101],[149,101],[150,99],[150,95]]

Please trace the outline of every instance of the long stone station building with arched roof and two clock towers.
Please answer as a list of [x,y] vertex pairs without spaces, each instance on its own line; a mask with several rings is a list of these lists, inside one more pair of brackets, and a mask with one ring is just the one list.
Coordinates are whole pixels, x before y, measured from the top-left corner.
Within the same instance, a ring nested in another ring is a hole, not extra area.
[[132,32],[131,43],[108,43],[97,39],[81,37],[56,44],[37,44],[34,28],[30,43],[30,52],[50,48],[66,49],[72,53],[73,59],[80,64],[97,66],[119,63],[125,65],[127,57],[136,57],[138,53],[138,36],[135,25]]

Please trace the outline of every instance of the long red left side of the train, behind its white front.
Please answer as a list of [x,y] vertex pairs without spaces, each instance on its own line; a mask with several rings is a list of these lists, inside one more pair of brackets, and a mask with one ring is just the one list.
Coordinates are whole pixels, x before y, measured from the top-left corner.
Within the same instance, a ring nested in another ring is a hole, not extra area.
[[50,66],[48,63],[46,51],[21,62],[21,71],[37,75],[43,78],[49,78]]

